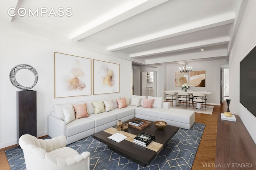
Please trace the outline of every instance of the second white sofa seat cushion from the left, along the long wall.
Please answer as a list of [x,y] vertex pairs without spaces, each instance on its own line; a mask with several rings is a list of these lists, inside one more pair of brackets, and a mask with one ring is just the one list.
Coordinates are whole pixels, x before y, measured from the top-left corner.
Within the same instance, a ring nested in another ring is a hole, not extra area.
[[92,114],[92,115],[90,115],[89,118],[94,119],[95,127],[98,127],[98,126],[104,125],[106,123],[116,121],[116,114],[108,111],[108,112],[102,112],[102,113],[98,113],[98,114]]

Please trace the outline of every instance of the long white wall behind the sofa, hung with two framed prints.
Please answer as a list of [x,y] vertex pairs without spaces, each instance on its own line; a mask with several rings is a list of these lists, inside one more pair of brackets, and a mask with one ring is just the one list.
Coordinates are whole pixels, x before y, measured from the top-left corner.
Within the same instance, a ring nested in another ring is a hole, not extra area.
[[[5,28],[0,28],[0,37],[0,148],[16,144],[16,91],[19,90],[10,83],[9,72],[17,64],[29,64],[39,74],[38,83],[32,88],[37,91],[38,137],[48,134],[47,115],[53,110],[54,104],[91,99],[96,101],[131,94],[127,90],[131,89],[131,61]],[[120,64],[120,93],[54,98],[54,52]]]

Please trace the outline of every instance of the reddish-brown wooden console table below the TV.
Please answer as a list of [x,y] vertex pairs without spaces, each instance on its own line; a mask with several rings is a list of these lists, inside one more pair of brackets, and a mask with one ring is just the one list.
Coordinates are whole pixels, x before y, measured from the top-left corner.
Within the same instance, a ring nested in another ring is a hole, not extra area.
[[236,122],[221,119],[218,113],[215,170],[255,170],[256,145],[240,117]]

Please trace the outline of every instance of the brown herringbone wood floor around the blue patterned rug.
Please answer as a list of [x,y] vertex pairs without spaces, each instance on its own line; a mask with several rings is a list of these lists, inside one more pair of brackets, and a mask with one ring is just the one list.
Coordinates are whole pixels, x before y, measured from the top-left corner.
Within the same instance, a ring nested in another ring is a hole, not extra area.
[[[206,168],[205,164],[214,164],[216,153],[216,135],[217,135],[217,122],[218,113],[223,113],[227,110],[226,102],[221,106],[215,106],[212,115],[196,113],[195,121],[198,123],[206,124],[204,133],[196,152],[196,158],[194,160],[192,170],[213,170],[214,168]],[[11,146],[14,147],[14,146]],[[10,148],[10,147],[8,147]],[[4,153],[4,149],[0,149],[0,170],[10,170],[7,158]]]

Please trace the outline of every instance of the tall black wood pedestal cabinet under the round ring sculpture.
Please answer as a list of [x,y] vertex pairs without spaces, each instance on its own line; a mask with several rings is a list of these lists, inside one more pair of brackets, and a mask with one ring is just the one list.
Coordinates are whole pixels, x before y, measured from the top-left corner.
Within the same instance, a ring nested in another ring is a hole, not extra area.
[[30,134],[36,137],[36,91],[17,91],[17,144],[20,137]]

